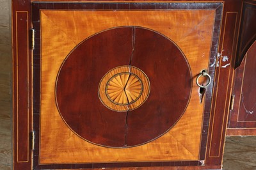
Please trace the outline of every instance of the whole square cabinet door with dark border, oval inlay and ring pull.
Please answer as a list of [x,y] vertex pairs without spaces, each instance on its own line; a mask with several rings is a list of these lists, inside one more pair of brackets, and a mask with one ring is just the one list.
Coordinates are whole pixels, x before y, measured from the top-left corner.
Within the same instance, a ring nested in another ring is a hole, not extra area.
[[221,10],[33,3],[34,168],[204,166]]

